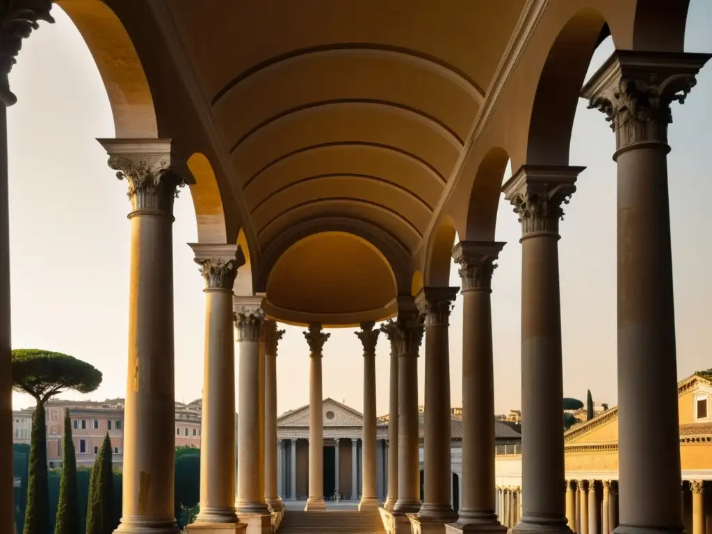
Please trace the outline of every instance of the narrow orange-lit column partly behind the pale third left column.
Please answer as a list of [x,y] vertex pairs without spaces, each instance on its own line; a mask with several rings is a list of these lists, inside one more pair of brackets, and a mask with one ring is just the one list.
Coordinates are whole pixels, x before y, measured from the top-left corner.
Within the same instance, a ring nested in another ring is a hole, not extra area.
[[265,501],[273,511],[282,509],[277,490],[277,346],[284,330],[273,320],[263,325],[265,340]]

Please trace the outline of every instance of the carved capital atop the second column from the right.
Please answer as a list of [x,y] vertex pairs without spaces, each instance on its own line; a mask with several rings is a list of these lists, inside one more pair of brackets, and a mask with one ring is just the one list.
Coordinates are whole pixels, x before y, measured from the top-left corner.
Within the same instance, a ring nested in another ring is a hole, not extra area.
[[522,165],[503,185],[504,198],[514,206],[522,237],[557,234],[564,218],[561,204],[576,192],[576,178],[586,167]]

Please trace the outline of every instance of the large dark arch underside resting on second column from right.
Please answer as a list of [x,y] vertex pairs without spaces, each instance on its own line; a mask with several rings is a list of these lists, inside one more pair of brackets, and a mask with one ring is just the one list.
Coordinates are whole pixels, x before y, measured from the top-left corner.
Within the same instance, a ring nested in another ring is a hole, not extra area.
[[572,16],[559,31],[549,50],[534,96],[527,140],[527,164],[569,164],[569,146],[579,93],[596,47],[609,34],[607,28],[605,19],[598,11],[586,8]]

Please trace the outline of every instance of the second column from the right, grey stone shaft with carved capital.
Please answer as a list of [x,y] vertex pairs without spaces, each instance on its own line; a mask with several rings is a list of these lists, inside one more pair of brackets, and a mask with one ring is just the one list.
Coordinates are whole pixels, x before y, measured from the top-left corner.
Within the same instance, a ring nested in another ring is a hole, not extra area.
[[[584,167],[524,165],[504,184],[522,225],[522,490],[515,530],[570,532],[566,523],[559,219]],[[553,533],[552,533],[553,534]]]

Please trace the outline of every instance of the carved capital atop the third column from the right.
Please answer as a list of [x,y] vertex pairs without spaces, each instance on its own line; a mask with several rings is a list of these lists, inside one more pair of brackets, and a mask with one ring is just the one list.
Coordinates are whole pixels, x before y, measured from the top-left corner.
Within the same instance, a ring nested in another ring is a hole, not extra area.
[[492,273],[495,263],[505,246],[497,241],[460,241],[452,251],[452,257],[460,268],[462,293],[489,290],[492,287]]

